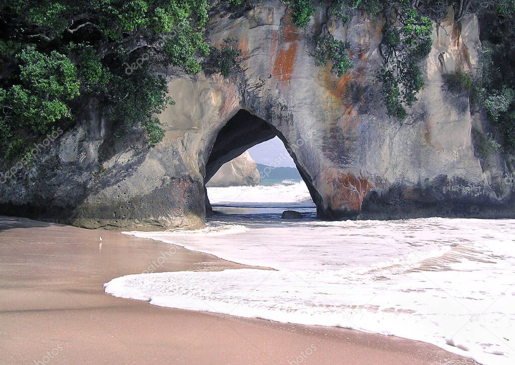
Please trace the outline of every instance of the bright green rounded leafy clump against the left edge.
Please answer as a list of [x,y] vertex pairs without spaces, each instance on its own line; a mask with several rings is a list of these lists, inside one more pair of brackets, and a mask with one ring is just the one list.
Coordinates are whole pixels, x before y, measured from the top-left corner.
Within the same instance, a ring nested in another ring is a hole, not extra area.
[[67,103],[79,95],[80,85],[74,63],[56,51],[47,56],[29,46],[15,59],[16,84],[0,88],[0,142],[6,158],[25,150],[26,135],[44,135],[72,118]]

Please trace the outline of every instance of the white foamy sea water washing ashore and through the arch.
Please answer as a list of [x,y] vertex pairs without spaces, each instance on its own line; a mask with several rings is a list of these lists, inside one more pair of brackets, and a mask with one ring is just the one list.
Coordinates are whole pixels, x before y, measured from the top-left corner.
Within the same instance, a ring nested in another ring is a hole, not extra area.
[[[515,220],[322,222],[303,183],[208,194],[225,214],[204,229],[127,234],[273,270],[127,275],[106,292],[395,335],[480,363],[515,363]],[[281,220],[291,208],[306,218]]]

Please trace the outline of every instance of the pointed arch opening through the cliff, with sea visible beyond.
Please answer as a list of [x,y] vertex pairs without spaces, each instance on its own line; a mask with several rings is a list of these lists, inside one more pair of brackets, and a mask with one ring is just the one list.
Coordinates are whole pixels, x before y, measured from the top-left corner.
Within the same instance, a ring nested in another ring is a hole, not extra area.
[[219,131],[205,164],[207,216],[296,210],[315,215],[307,174],[279,130],[241,109]]

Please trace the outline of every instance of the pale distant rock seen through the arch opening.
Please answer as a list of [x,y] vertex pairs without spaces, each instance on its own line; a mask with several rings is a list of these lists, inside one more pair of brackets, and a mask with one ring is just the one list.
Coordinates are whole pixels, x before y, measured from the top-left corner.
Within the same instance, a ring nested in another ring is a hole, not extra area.
[[226,162],[208,181],[208,187],[256,186],[260,185],[260,176],[255,161],[248,152]]

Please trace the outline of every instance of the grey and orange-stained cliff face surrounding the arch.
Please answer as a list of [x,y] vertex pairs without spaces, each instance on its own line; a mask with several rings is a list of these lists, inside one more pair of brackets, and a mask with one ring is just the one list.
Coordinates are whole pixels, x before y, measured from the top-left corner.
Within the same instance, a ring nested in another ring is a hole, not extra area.
[[339,78],[307,56],[311,34],[286,5],[262,2],[234,14],[217,9],[212,44],[238,40],[245,61],[237,76],[169,77],[176,105],[160,116],[156,147],[138,136],[115,139],[90,108],[78,125],[0,186],[0,213],[84,227],[201,226],[204,181],[247,148],[279,136],[289,149],[321,218],[440,216],[514,217],[513,159],[479,156],[472,129],[488,131],[469,98],[444,82],[452,71],[475,73],[480,47],[475,16],[458,27],[434,25],[423,72],[426,88],[404,122],[389,118],[375,82],[381,21],[357,14],[332,23],[351,44],[354,68]]

